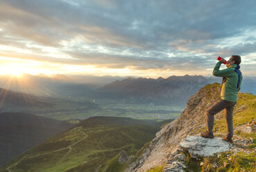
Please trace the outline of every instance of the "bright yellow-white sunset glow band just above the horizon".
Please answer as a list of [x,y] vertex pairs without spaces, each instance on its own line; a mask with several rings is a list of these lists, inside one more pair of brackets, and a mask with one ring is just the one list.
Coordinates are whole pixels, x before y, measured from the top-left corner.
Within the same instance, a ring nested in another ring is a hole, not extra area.
[[[196,72],[196,71],[195,71]],[[158,78],[169,77],[173,75],[183,75],[183,73],[170,70],[148,69],[136,70],[129,68],[111,69],[107,67],[96,67],[94,65],[63,65],[50,62],[37,62],[33,60],[20,60],[15,58],[0,57],[0,75],[9,74],[12,76],[21,76],[22,74],[45,74],[51,76],[53,74],[85,74],[95,76],[141,76]]]

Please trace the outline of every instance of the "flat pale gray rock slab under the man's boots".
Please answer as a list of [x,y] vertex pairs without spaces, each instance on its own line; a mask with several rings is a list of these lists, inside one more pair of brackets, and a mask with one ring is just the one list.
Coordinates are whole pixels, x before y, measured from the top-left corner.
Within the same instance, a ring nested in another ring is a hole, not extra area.
[[194,158],[211,156],[231,148],[230,144],[221,138],[206,139],[200,136],[189,136],[183,139],[180,146],[188,150]]

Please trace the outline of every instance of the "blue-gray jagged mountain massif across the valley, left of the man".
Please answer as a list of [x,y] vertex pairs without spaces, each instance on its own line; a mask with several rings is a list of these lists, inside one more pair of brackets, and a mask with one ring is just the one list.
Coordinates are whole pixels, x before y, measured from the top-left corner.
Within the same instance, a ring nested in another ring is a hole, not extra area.
[[189,96],[214,81],[203,76],[170,76],[169,78],[126,78],[96,90],[99,98],[113,98],[133,103],[185,105]]

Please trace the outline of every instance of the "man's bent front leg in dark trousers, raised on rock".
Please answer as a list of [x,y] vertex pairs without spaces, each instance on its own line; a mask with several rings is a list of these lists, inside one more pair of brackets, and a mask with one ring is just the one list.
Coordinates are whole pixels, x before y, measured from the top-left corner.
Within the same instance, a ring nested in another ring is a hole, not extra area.
[[214,126],[214,114],[225,109],[226,106],[227,106],[227,102],[221,99],[220,101],[217,101],[207,109],[206,111],[207,131],[210,133],[210,135],[213,135],[212,128]]

